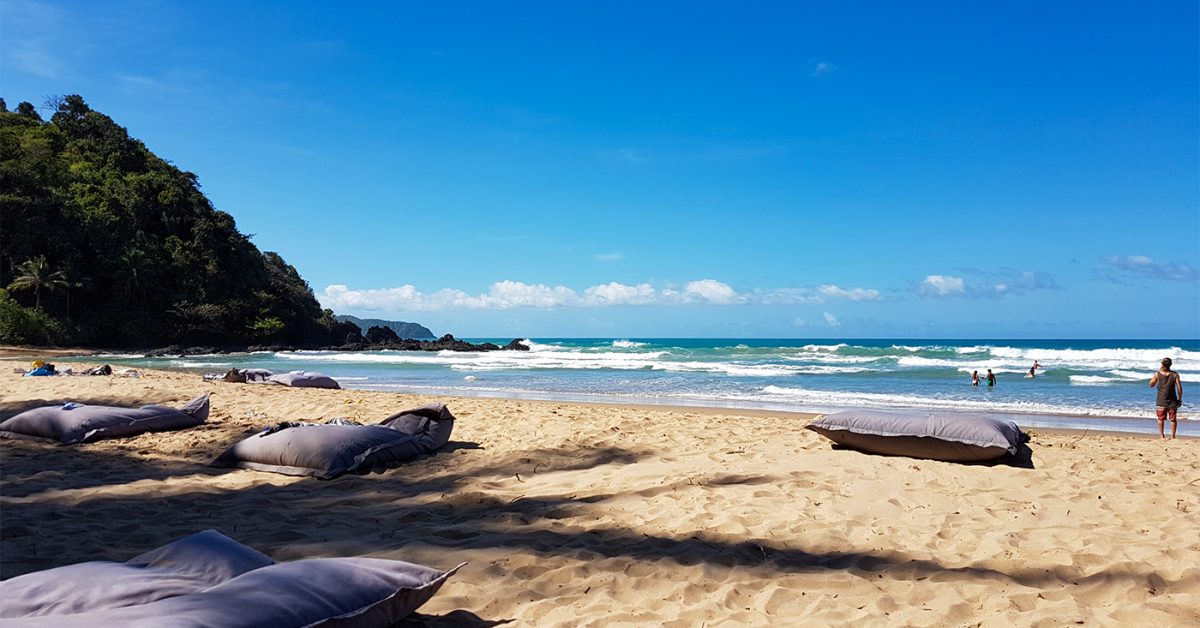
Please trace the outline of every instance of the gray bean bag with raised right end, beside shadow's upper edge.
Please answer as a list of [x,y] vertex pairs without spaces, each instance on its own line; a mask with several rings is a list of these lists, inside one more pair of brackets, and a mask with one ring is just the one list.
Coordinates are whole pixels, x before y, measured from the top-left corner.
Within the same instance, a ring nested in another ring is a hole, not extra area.
[[377,425],[281,424],[230,447],[215,467],[330,479],[383,471],[450,441],[454,414],[442,403],[397,412]]

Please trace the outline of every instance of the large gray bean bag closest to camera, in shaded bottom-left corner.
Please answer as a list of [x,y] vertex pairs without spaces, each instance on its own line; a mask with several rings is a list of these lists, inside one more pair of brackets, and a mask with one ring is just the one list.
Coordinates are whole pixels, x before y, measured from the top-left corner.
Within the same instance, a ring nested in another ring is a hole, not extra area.
[[384,627],[433,597],[440,572],[380,558],[276,563],[205,531],[125,563],[90,562],[0,582],[4,626]]

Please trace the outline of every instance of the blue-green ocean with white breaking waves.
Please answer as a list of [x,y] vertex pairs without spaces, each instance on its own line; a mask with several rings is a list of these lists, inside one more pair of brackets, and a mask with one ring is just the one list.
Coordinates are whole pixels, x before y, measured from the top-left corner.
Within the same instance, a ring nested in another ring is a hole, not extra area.
[[[506,343],[509,339],[470,339]],[[833,412],[976,411],[1022,426],[1157,432],[1147,382],[1164,357],[1184,383],[1181,432],[1200,433],[1190,387],[1200,340],[533,339],[528,352],[264,352],[91,357],[114,366],[319,371],[344,388],[640,405]],[[1025,375],[1037,360],[1034,378]],[[995,388],[971,385],[996,373]]]

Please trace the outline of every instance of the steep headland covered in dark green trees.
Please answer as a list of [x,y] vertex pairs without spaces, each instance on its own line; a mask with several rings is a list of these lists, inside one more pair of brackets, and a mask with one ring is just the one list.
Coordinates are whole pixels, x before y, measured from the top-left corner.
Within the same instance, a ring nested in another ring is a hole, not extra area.
[[0,343],[341,345],[295,268],[79,96],[0,100]]

